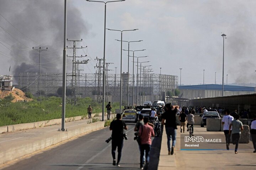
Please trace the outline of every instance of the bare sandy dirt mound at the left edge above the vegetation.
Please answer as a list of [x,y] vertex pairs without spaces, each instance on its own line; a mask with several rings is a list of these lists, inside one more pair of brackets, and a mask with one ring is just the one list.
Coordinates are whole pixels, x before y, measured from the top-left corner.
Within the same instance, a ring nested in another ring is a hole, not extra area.
[[1,91],[0,90],[0,98],[3,99],[6,96],[9,96],[10,94],[12,94],[12,96],[14,97],[14,100],[12,100],[12,102],[18,102],[18,101],[32,101],[32,98],[27,98],[25,96],[25,93],[23,91],[21,91],[20,89],[14,89],[13,91]]

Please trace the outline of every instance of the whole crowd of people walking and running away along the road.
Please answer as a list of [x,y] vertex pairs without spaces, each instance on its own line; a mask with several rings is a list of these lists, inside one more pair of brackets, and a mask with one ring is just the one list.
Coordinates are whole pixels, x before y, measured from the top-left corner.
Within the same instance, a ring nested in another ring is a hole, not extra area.
[[[111,115],[111,103],[108,102],[107,106],[107,119],[110,119]],[[132,106],[125,106],[125,109],[133,109]],[[136,108],[134,108],[136,109]],[[249,110],[242,110],[239,114],[234,110],[230,113],[227,108],[206,108],[205,106],[196,107],[180,107],[172,106],[171,103],[167,103],[165,107],[162,108],[164,113],[161,114],[161,124],[165,126],[167,135],[167,147],[168,154],[173,155],[176,145],[176,135],[177,135],[177,120],[176,115],[179,115],[180,119],[180,132],[185,133],[185,126],[191,126],[192,134],[194,132],[194,114],[203,114],[208,111],[215,111],[223,115],[222,124],[226,140],[226,149],[229,150],[230,138],[232,137],[232,143],[235,145],[235,154],[238,153],[239,138],[241,136],[241,131],[243,130],[242,122],[239,118],[253,118],[251,121],[251,137],[254,146],[254,153],[256,153],[256,115],[252,115]],[[89,106],[87,108],[89,118],[91,118],[92,108]],[[224,115],[225,114],[225,115]],[[149,154],[151,149],[151,137],[155,136],[154,124],[149,123],[149,118],[154,118],[159,116],[159,111],[155,108],[151,109],[149,117],[144,117],[143,114],[139,114],[138,122],[135,125],[134,131],[137,132],[137,142],[139,145],[140,152],[140,169],[148,166]],[[126,138],[124,130],[127,130],[126,123],[121,119],[121,114],[116,114],[116,120],[113,120],[110,124],[110,130],[112,130],[112,158],[113,165],[120,166],[119,162],[121,160],[123,140]],[[194,135],[192,135],[194,136]],[[171,143],[172,142],[172,143]],[[118,152],[116,160],[116,149]],[[144,165],[145,164],[145,165]]]

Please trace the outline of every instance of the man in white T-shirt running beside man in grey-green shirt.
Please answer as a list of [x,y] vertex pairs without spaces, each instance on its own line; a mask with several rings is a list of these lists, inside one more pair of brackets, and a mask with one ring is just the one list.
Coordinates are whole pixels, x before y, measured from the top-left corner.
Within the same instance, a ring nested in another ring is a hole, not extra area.
[[[232,116],[230,116],[230,111],[229,109],[224,110],[224,113],[226,113],[226,115],[223,117],[222,119],[222,124],[223,124],[223,131],[226,137],[226,149],[229,150],[229,143],[230,143],[230,134],[229,134],[229,125],[231,123],[231,121],[234,120],[234,118]],[[232,129],[231,129],[232,131]]]

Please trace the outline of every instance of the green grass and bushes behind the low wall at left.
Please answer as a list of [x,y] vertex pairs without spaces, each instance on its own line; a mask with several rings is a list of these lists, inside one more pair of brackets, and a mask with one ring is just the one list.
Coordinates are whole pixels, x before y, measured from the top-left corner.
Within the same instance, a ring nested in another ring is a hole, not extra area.
[[[29,93],[27,93],[29,94]],[[30,96],[32,97],[32,96]],[[42,97],[42,102],[33,100],[31,102],[11,103],[12,95],[0,100],[0,126],[30,123],[36,121],[59,119],[62,115],[61,97]],[[66,118],[74,121],[73,117],[87,116],[87,107],[91,105],[92,113],[102,112],[102,104],[92,101],[90,97],[79,98],[76,106],[70,104],[70,99],[66,98]],[[119,108],[119,103],[112,105],[112,110]],[[93,120],[94,121],[94,120]]]

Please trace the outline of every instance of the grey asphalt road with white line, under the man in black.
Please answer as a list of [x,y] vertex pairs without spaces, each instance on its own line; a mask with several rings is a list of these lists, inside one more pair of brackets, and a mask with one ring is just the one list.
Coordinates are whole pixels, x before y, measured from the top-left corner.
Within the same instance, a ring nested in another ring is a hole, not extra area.
[[138,144],[133,140],[134,125],[128,125],[128,140],[124,141],[121,167],[112,165],[111,143],[105,142],[111,131],[105,128],[25,158],[4,170],[139,169]]

